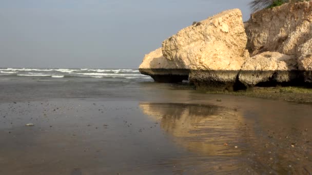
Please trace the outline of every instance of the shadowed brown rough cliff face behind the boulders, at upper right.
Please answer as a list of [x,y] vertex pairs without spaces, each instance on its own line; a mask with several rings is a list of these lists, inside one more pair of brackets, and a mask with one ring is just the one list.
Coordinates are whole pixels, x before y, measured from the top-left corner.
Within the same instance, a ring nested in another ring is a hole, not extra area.
[[300,57],[298,47],[312,38],[312,1],[253,13],[245,28],[251,56],[271,51]]

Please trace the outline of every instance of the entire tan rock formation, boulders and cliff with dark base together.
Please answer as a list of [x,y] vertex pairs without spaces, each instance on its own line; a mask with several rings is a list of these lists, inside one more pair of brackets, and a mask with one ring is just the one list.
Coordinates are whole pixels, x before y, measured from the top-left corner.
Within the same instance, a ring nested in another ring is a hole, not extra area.
[[213,91],[312,83],[312,1],[258,11],[245,24],[239,9],[193,23],[146,55],[140,72]]

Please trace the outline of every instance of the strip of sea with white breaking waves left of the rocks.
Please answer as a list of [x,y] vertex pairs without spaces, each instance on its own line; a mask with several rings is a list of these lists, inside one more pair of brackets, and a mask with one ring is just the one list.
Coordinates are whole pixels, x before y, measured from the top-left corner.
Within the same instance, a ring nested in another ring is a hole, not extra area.
[[46,68],[0,68],[1,77],[49,78],[102,78],[102,79],[135,79],[149,81],[150,76],[140,74],[138,69],[46,69]]

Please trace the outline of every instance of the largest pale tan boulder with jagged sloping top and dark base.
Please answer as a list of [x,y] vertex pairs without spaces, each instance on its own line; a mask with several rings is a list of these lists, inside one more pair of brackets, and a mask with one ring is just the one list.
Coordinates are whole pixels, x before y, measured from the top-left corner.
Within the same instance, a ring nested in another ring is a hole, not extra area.
[[163,41],[163,55],[190,70],[189,80],[224,90],[236,82],[247,37],[242,13],[227,10],[194,23]]

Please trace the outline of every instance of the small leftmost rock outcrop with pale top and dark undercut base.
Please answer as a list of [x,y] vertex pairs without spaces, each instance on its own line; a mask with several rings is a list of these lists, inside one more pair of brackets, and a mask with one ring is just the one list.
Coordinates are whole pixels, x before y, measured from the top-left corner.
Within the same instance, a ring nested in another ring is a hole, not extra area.
[[189,70],[183,65],[166,59],[162,48],[145,55],[139,67],[141,74],[151,76],[157,82],[181,82],[188,79]]

